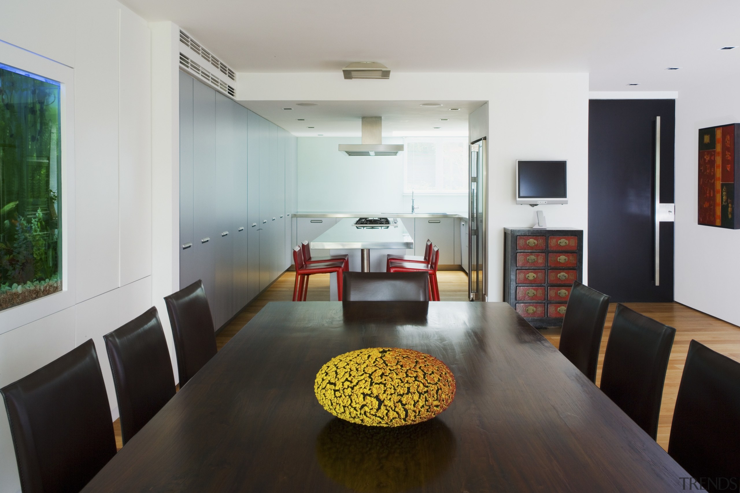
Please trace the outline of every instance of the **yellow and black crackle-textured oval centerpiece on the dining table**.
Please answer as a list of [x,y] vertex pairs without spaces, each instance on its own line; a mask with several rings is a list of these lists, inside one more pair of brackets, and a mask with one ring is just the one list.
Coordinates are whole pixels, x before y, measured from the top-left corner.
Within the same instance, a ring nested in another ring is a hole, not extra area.
[[442,361],[419,351],[371,347],[335,356],[316,375],[319,404],[337,418],[369,426],[421,423],[455,397]]

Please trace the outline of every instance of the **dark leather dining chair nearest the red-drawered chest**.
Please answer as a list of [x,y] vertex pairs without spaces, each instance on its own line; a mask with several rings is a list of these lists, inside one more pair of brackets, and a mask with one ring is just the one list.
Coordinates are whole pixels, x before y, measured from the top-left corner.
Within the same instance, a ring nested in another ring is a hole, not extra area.
[[596,382],[599,345],[608,310],[609,296],[573,282],[558,349],[593,382]]

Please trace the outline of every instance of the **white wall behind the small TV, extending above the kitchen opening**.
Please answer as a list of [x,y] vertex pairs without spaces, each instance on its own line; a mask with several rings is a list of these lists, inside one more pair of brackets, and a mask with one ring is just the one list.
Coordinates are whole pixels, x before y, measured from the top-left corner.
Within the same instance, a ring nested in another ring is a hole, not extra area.
[[515,203],[517,159],[567,159],[570,203],[540,207],[551,227],[588,228],[588,74],[394,72],[388,81],[348,81],[335,73],[240,73],[238,94],[246,101],[488,101],[491,301],[503,296],[503,228],[535,221],[535,208]]

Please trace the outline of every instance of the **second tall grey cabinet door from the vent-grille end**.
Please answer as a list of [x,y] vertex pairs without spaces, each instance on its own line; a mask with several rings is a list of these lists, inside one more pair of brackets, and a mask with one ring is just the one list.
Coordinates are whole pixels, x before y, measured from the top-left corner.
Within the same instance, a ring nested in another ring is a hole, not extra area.
[[[193,249],[196,276],[215,306],[216,93],[193,81]],[[215,313],[215,312],[214,312]],[[214,319],[215,324],[215,319]]]

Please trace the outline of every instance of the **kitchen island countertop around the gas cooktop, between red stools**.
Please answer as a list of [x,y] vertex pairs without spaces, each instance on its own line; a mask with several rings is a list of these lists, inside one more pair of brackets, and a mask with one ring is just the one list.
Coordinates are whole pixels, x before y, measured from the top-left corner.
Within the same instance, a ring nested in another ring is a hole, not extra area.
[[[316,217],[316,216],[312,216]],[[311,248],[414,248],[403,221],[388,228],[357,228],[354,217],[337,222],[311,242]]]

